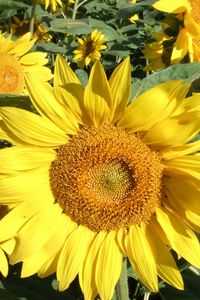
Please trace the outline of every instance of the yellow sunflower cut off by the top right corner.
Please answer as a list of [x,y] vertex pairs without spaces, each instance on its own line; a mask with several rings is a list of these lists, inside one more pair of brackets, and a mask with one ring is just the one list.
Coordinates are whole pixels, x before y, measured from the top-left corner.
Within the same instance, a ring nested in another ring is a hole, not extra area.
[[171,63],[180,62],[186,54],[190,62],[200,62],[200,3],[199,0],[159,0],[154,8],[182,16],[181,27],[173,47]]

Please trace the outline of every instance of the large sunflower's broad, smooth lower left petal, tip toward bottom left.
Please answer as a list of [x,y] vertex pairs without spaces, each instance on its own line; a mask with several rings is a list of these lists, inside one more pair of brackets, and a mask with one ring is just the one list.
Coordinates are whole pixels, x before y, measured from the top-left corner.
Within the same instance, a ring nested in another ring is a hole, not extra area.
[[54,204],[34,215],[17,233],[15,251],[10,262],[15,264],[37,252],[52,236],[60,223],[61,207]]

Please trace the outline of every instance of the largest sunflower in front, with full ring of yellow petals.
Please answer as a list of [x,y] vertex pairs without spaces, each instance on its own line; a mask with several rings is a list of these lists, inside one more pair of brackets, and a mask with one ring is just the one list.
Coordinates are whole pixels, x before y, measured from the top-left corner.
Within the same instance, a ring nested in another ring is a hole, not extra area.
[[57,274],[59,289],[78,274],[85,299],[112,298],[126,255],[139,280],[158,276],[183,289],[170,248],[200,267],[199,96],[169,81],[128,105],[127,58],[107,81],[96,62],[84,89],[58,57],[54,88],[27,78],[39,114],[2,107],[15,147],[0,155],[0,241],[22,277]]

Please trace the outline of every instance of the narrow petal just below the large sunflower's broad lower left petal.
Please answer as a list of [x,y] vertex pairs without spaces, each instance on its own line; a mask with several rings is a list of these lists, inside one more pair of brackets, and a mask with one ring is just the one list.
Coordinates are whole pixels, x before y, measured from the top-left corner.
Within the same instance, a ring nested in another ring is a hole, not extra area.
[[52,224],[52,226],[56,226],[56,230],[46,244],[23,261],[21,277],[37,273],[44,263],[55,257],[63,246],[66,237],[77,227],[77,224],[72,222],[65,214],[62,214],[59,217],[58,224]]

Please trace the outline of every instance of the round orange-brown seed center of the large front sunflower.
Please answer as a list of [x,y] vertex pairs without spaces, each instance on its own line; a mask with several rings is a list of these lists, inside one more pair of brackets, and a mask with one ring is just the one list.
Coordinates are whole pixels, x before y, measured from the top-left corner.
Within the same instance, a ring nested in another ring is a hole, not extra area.
[[160,205],[157,152],[115,126],[83,128],[57,150],[50,184],[63,212],[95,232],[148,222]]

